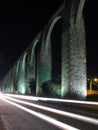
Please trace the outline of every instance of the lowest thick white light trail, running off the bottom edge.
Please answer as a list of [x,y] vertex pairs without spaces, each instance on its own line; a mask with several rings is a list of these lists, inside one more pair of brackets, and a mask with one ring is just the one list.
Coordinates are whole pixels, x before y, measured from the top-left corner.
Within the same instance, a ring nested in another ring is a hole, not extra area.
[[55,125],[55,126],[61,128],[61,129],[63,129],[63,130],[79,130],[79,129],[75,128],[75,127],[72,127],[72,126],[67,125],[67,124],[65,124],[65,123],[62,123],[62,122],[60,122],[60,121],[57,121],[56,119],[54,119],[54,118],[52,118],[52,117],[46,116],[46,115],[41,114],[41,113],[39,113],[39,112],[35,112],[35,111],[30,110],[30,109],[28,109],[28,108],[26,108],[26,107],[24,107],[24,106],[21,106],[21,105],[19,105],[19,104],[16,104],[16,103],[14,103],[14,102],[11,102],[11,101],[5,99],[4,97],[1,97],[1,99],[2,99],[3,101],[6,101],[7,103],[10,103],[10,104],[12,104],[12,105],[14,105],[14,106],[16,106],[16,107],[18,107],[18,108],[24,110],[24,111],[26,111],[26,112],[28,112],[28,113],[30,113],[30,114],[36,116],[36,117],[38,117],[38,118],[44,120],[44,121],[47,121],[47,122],[49,122],[49,123],[51,123],[51,124],[53,124],[53,125]]

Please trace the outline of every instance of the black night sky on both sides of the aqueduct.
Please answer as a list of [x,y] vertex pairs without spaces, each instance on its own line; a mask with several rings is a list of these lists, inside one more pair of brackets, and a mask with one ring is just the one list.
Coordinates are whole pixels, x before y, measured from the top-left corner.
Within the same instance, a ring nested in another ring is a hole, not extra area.
[[[0,3],[0,78],[40,32],[63,0],[8,1]],[[97,0],[86,0],[87,70],[98,73]]]

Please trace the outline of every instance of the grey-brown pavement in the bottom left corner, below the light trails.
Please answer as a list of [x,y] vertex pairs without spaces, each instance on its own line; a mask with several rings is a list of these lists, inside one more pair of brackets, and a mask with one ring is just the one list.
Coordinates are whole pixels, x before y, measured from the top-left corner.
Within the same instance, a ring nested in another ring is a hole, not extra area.
[[58,128],[0,99],[0,130],[58,130]]

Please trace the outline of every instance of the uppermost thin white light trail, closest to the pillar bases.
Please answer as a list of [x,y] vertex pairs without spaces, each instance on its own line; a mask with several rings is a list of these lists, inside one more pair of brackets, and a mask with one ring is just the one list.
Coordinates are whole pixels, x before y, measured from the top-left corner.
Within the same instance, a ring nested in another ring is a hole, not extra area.
[[77,104],[88,104],[88,105],[98,105],[98,102],[91,101],[79,101],[79,100],[68,100],[68,99],[57,99],[57,98],[44,98],[44,97],[34,97],[34,96],[24,96],[24,95],[14,95],[14,94],[5,94],[10,97],[23,98],[27,100],[34,101],[55,101],[55,102],[68,102],[68,103],[77,103]]

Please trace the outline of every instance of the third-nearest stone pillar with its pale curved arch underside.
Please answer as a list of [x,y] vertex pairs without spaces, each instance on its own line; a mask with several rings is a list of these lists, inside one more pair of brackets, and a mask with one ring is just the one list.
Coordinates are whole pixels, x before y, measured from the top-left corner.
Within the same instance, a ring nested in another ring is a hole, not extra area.
[[30,52],[28,56],[28,66],[27,66],[27,81],[28,88],[30,93],[35,94],[36,92],[36,76],[37,76],[37,55],[36,48],[39,39],[35,39],[34,42],[30,46]]

